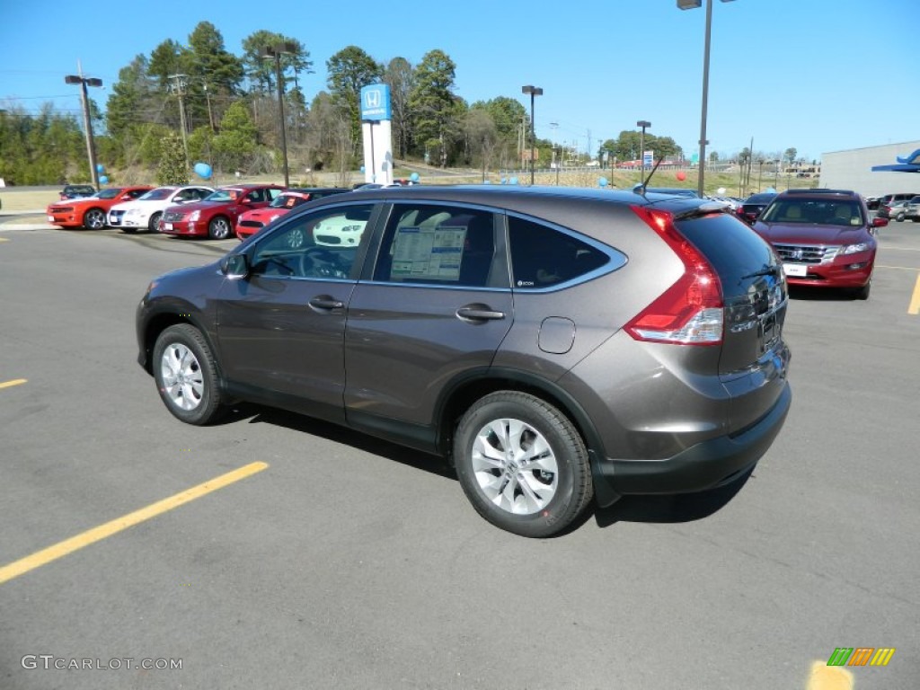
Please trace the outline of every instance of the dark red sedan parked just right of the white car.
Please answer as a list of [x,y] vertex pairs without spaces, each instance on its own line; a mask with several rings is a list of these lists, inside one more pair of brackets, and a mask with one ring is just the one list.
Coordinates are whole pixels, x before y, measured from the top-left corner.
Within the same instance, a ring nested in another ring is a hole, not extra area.
[[173,236],[226,239],[233,235],[240,215],[268,206],[284,191],[281,185],[233,185],[221,187],[201,201],[169,206],[157,229]]

